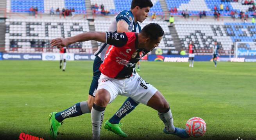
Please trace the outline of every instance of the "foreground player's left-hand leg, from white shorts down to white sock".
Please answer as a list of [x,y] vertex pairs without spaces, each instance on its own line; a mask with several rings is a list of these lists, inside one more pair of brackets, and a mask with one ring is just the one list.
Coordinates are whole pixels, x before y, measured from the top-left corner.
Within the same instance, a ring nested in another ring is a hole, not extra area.
[[99,84],[95,94],[95,101],[91,108],[92,140],[100,139],[100,128],[102,126],[105,108],[108,103],[111,103],[115,99],[120,91],[118,89],[118,83],[114,83],[113,79],[101,75],[98,81]]

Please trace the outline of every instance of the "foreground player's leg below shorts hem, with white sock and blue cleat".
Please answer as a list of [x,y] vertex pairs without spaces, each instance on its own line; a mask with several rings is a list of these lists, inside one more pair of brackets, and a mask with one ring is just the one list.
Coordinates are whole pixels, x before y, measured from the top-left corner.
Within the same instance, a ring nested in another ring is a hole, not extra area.
[[181,138],[189,138],[185,129],[175,128],[173,124],[172,112],[168,102],[165,100],[163,95],[157,91],[147,102],[147,106],[154,108],[158,111],[159,118],[165,124],[164,133],[177,135]]

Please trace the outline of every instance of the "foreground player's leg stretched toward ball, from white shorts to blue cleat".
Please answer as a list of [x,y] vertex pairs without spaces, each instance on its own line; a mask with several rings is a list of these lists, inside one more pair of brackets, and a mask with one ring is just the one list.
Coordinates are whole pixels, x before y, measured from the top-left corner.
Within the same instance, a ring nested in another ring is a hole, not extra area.
[[[129,84],[128,89],[126,89],[127,93],[131,93],[129,95],[134,100],[158,111],[160,119],[165,124],[164,132],[166,134],[177,135],[181,138],[189,137],[185,129],[174,127],[170,106],[163,95],[154,86],[139,77],[138,74],[136,76],[132,77],[130,83],[127,83],[127,85]],[[137,90],[132,88],[134,86],[138,87]]]

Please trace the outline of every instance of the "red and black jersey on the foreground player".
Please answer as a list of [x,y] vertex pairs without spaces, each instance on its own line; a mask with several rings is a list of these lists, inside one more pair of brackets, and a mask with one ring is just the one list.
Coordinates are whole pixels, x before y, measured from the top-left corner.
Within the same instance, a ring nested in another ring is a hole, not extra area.
[[136,63],[149,53],[145,49],[138,49],[138,34],[134,32],[106,32],[106,43],[110,46],[99,70],[110,78],[131,77]]

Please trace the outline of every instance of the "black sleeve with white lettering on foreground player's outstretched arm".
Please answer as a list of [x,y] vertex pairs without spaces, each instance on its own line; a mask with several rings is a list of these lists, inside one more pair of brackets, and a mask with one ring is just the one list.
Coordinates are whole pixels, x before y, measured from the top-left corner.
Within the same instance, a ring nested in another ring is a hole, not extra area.
[[122,47],[127,43],[127,41],[128,37],[125,33],[106,32],[106,44]]

